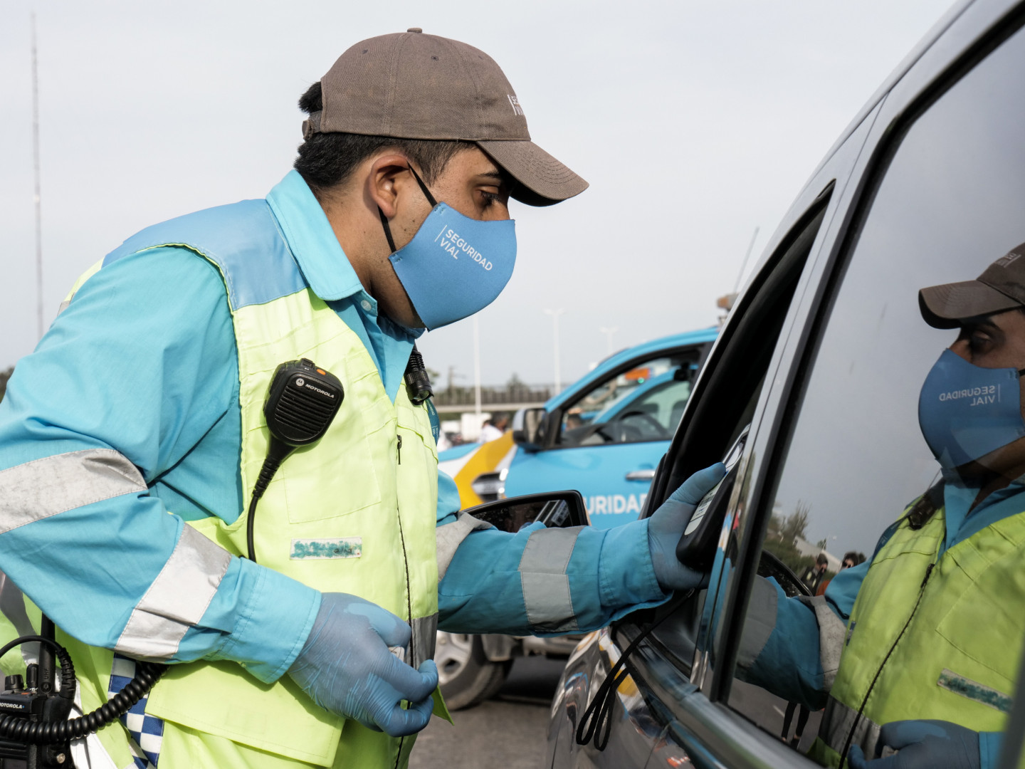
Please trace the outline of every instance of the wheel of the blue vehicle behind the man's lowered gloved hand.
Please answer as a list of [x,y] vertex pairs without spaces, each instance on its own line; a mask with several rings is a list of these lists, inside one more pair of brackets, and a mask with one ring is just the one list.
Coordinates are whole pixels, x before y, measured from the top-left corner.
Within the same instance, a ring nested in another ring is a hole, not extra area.
[[450,711],[473,707],[498,693],[512,660],[492,662],[480,636],[438,632],[438,680]]

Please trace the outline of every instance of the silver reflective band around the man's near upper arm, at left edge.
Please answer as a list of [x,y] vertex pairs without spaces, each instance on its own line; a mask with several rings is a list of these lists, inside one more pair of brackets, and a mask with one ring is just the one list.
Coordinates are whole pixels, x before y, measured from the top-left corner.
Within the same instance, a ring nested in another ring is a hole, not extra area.
[[146,491],[138,469],[114,449],[54,454],[0,471],[0,534],[122,494]]

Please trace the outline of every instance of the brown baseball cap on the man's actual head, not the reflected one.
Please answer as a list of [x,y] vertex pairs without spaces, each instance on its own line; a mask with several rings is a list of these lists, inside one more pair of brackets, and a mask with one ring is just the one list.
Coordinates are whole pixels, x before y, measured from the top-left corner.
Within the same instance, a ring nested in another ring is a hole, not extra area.
[[474,141],[517,180],[512,197],[545,206],[587,183],[530,139],[527,117],[487,53],[419,28],[372,37],[342,53],[321,78],[324,109],[302,135],[361,133]]

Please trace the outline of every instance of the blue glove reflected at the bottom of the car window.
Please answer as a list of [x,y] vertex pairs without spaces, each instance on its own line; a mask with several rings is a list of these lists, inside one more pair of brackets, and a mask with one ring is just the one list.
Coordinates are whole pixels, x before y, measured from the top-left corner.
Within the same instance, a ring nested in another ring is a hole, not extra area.
[[[895,756],[878,758],[887,745]],[[851,745],[852,769],[981,769],[979,732],[949,721],[893,721],[879,731],[875,760],[865,761],[860,745]]]

